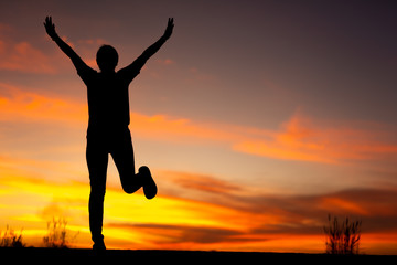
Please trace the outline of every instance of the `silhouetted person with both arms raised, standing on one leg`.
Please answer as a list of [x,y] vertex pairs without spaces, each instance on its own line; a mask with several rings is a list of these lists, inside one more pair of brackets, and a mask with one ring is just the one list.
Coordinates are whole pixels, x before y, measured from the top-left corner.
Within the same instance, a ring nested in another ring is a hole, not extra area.
[[149,168],[140,167],[136,173],[131,135],[128,128],[130,123],[128,86],[144,63],[171,36],[173,19],[169,19],[164,34],[154,44],[130,65],[117,72],[115,71],[118,63],[117,51],[110,45],[99,47],[96,55],[99,73],[89,67],[57,35],[51,17],[46,17],[44,26],[51,39],[72,60],[77,74],[87,86],[89,120],[86,159],[90,181],[89,229],[94,241],[93,248],[106,250],[101,229],[108,153],[116,163],[122,189],[127,193],[133,193],[142,187],[147,199],[152,199],[157,194],[157,186]]

